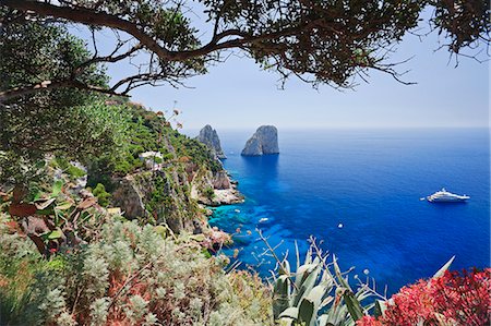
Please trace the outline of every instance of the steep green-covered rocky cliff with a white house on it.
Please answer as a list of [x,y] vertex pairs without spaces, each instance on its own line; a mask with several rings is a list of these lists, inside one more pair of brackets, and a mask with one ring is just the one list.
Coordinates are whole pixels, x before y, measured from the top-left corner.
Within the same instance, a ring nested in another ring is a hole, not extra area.
[[165,224],[177,233],[201,232],[207,228],[202,204],[232,201],[215,191],[229,196],[237,192],[220,161],[211,148],[171,129],[161,116],[140,106],[132,112],[128,153],[116,164],[95,161],[89,183],[104,183],[112,206],[128,219]]

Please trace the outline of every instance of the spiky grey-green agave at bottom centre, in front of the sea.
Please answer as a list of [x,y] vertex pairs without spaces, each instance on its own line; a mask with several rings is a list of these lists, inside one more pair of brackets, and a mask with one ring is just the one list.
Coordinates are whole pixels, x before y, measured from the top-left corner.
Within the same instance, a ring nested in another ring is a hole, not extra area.
[[375,292],[364,285],[354,291],[347,273],[340,271],[336,256],[328,259],[330,255],[322,253],[314,239],[303,264],[296,246],[297,268],[291,271],[288,261],[278,259],[261,232],[260,237],[278,262],[278,274],[273,281],[273,314],[280,325],[355,325],[375,305],[378,311],[382,310],[375,300],[362,305],[362,301],[374,297]]

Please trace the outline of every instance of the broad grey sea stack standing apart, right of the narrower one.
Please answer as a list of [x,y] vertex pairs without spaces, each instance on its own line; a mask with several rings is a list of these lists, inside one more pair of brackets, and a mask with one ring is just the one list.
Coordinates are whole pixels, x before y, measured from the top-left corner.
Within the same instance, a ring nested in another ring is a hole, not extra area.
[[244,156],[279,154],[278,130],[274,125],[261,125],[246,143],[242,149]]

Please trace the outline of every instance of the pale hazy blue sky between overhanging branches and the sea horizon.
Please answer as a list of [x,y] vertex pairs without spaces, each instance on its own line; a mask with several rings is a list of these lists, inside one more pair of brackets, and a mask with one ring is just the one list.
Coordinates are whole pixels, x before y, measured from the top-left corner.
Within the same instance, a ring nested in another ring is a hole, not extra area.
[[[404,85],[391,75],[370,72],[369,83],[359,80],[355,90],[339,92],[290,79],[279,89],[278,75],[261,71],[253,60],[231,56],[209,68],[207,74],[185,81],[191,88],[144,86],[132,90],[133,101],[154,110],[181,111],[184,132],[211,124],[217,130],[324,128],[488,128],[489,63],[460,58],[450,60],[439,51],[436,33],[422,39],[407,35],[393,61],[414,57],[398,71],[410,70]],[[109,68],[118,76],[121,67]]]

